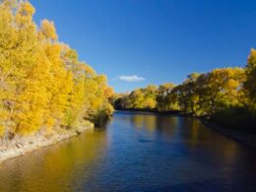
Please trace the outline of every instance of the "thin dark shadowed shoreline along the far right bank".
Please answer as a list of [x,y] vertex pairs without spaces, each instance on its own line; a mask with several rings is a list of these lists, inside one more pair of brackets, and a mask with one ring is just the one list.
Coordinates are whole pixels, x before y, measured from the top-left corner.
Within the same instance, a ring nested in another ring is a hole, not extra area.
[[256,151],[256,134],[246,133],[244,131],[233,130],[213,121],[206,120],[203,117],[193,116],[191,114],[184,113],[182,111],[158,111],[158,110],[147,110],[147,109],[127,109],[127,110],[116,110],[116,111],[132,111],[132,112],[149,112],[158,115],[173,115],[173,116],[187,116],[191,118],[196,118],[201,121],[205,126],[209,127],[210,129],[219,132],[220,134],[224,135],[228,139],[231,139],[251,150]]

